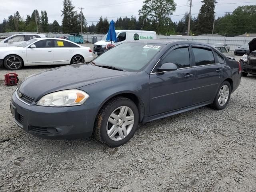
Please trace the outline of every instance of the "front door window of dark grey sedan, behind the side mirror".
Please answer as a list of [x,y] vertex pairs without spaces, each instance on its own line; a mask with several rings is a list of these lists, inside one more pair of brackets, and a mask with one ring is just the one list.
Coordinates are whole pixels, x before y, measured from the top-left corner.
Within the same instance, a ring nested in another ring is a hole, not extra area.
[[161,63],[174,63],[178,69],[190,67],[188,47],[179,47],[172,50],[163,58]]

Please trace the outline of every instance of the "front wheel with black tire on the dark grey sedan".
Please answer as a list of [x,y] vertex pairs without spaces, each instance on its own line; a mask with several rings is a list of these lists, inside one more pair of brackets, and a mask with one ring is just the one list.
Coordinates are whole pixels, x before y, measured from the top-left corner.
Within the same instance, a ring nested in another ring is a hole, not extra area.
[[138,121],[138,108],[134,102],[125,97],[116,97],[105,104],[99,112],[94,126],[94,136],[110,147],[118,147],[132,138]]

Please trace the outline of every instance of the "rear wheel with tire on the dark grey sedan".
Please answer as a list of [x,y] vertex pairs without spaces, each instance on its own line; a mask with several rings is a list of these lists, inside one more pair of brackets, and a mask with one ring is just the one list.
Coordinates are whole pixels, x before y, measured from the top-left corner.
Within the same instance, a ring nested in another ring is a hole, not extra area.
[[230,99],[230,94],[231,94],[231,86],[228,81],[224,81],[221,85],[220,88],[218,89],[218,92],[214,98],[214,101],[212,103],[212,108],[216,110],[222,110],[224,109]]

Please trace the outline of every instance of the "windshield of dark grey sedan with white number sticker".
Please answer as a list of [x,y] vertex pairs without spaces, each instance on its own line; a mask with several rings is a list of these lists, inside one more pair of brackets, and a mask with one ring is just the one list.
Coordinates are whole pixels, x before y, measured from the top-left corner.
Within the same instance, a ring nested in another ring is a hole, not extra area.
[[124,71],[141,71],[162,49],[162,44],[123,43],[93,60],[97,66],[111,66]]

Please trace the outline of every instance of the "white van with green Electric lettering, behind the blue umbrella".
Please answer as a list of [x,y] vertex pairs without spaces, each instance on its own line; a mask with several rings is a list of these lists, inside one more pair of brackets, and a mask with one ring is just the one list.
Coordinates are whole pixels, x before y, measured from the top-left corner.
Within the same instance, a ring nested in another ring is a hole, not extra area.
[[[93,53],[100,55],[107,51],[106,45],[111,44],[110,41],[106,41],[106,34],[101,41],[98,41],[93,46]],[[140,31],[140,30],[116,30],[117,42],[112,41],[113,45],[118,45],[127,41],[138,40],[156,40],[155,31]]]

